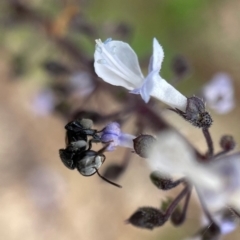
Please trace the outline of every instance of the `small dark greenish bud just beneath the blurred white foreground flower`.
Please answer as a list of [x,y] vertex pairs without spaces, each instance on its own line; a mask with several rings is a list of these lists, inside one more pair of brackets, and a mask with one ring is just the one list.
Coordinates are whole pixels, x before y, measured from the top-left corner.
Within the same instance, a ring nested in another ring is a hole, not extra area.
[[152,183],[159,189],[170,190],[178,186],[181,181],[173,181],[171,178],[162,175],[159,171],[154,171],[150,174]]

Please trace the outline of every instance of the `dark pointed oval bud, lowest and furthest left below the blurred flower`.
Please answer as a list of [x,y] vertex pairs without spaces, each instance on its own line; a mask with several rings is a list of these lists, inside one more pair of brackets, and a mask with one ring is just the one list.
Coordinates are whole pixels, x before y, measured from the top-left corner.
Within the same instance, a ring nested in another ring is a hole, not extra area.
[[152,230],[162,226],[166,221],[165,215],[159,209],[141,207],[126,222],[139,228]]

